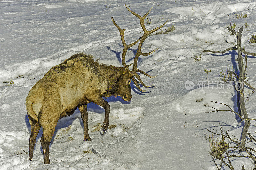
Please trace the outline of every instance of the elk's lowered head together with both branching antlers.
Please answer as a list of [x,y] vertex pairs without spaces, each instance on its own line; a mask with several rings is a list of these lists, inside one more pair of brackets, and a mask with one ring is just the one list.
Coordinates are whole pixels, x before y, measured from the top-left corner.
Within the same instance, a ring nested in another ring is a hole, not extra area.
[[[140,19],[140,25],[141,25],[141,27],[142,27],[142,29],[143,29],[143,32],[144,32],[143,35],[142,35],[142,37],[140,37],[140,38],[139,38],[138,40],[136,40],[134,43],[131,43],[131,44],[127,45],[127,44],[125,43],[125,40],[124,40],[124,31],[125,31],[125,29],[121,29],[121,28],[116,24],[116,22],[114,21],[113,17],[111,17],[113,24],[116,26],[116,28],[117,28],[117,29],[119,30],[119,32],[120,32],[121,41],[122,41],[123,46],[124,46],[123,53],[122,53],[122,64],[123,64],[124,68],[123,68],[123,71],[122,71],[122,76],[120,76],[120,78],[119,78],[119,80],[118,80],[118,81],[119,81],[119,82],[118,82],[118,83],[119,83],[119,86],[118,86],[118,89],[117,89],[117,92],[116,92],[116,96],[121,96],[124,101],[131,101],[131,98],[132,98],[132,95],[131,95],[131,86],[130,86],[131,79],[132,79],[132,81],[134,82],[134,84],[136,85],[136,87],[137,87],[140,91],[142,91],[142,92],[144,92],[145,90],[142,90],[142,89],[140,88],[140,86],[138,85],[138,83],[140,83],[142,86],[147,87],[147,88],[148,88],[148,87],[152,87],[152,86],[146,86],[146,85],[142,82],[142,80],[140,79],[140,76],[138,75],[137,72],[142,73],[142,74],[144,74],[144,75],[146,75],[146,76],[148,76],[148,77],[150,77],[150,78],[156,77],[156,76],[151,76],[151,75],[149,75],[148,73],[145,73],[144,71],[138,69],[138,68],[137,68],[137,62],[138,62],[139,56],[141,56],[141,55],[142,55],[142,56],[148,56],[148,55],[152,54],[153,52],[155,52],[158,48],[157,48],[156,50],[151,51],[151,52],[143,53],[143,52],[141,52],[141,46],[142,46],[143,42],[145,41],[145,39],[148,37],[148,35],[152,34],[152,33],[155,32],[156,30],[158,30],[158,29],[164,27],[164,25],[167,23],[167,21],[168,21],[169,19],[168,19],[163,25],[161,25],[161,26],[159,26],[159,27],[157,27],[157,28],[155,28],[155,29],[152,29],[152,30],[148,31],[148,30],[146,29],[146,27],[145,27],[144,19],[145,19],[146,16],[149,14],[149,12],[151,11],[152,8],[151,8],[144,16],[140,16],[140,15],[136,14],[135,12],[133,12],[132,10],[130,10],[126,5],[125,5],[125,7],[128,9],[128,11],[130,11],[133,15],[135,15],[136,17],[138,17],[138,18]],[[128,65],[128,66],[126,65],[126,63],[125,63],[125,55],[126,55],[126,53],[127,53],[127,50],[128,50],[130,47],[132,47],[133,45],[135,45],[136,43],[138,43],[139,41],[140,41],[140,43],[139,43],[139,45],[138,45],[138,50],[137,50],[137,52],[136,52],[136,54],[135,54],[135,57],[134,57],[134,62],[133,62],[132,71],[130,71],[130,70],[128,69],[128,67],[131,66],[132,64],[130,64],[130,65]],[[138,81],[135,79],[135,77],[138,79]],[[118,94],[118,95],[117,95],[117,94]]]

